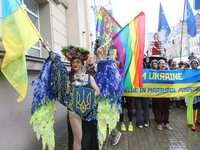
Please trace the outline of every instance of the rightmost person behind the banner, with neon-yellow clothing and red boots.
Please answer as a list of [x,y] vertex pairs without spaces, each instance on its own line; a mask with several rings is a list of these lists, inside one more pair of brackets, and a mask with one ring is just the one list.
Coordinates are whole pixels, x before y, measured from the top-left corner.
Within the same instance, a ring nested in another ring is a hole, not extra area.
[[[192,59],[190,61],[190,65],[192,69],[197,69],[199,62],[196,59]],[[187,104],[187,123],[191,124],[191,130],[196,130],[196,118],[197,122],[199,122],[199,113],[200,110],[200,96],[186,97]]]

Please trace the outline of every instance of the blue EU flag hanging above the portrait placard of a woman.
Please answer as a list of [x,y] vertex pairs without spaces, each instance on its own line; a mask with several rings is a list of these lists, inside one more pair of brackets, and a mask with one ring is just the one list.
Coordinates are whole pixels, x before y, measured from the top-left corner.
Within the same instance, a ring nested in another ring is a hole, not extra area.
[[163,11],[161,3],[160,3],[159,20],[158,20],[158,32],[159,31],[165,31],[165,43],[166,43],[167,37],[170,34],[171,29],[165,17],[165,13]]

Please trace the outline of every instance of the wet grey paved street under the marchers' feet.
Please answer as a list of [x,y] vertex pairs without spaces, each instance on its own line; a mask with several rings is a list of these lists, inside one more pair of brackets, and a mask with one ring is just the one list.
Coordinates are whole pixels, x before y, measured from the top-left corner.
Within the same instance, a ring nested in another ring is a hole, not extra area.
[[[127,110],[125,109],[124,120],[128,126]],[[136,127],[135,110],[133,110],[133,132],[122,132],[121,139],[116,146],[111,146],[112,137],[108,137],[103,150],[199,150],[200,149],[200,125],[197,130],[191,131],[186,122],[186,108],[170,109],[170,124],[173,131],[163,128],[157,129],[152,109],[150,108],[150,126],[139,129]],[[120,131],[120,123],[117,125]],[[56,143],[55,150],[67,150],[67,132]]]

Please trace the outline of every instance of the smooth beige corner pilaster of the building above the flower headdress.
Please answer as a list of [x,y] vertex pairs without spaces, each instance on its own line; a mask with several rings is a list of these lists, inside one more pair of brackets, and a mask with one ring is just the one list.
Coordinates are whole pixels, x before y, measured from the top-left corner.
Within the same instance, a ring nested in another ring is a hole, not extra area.
[[68,43],[91,51],[89,1],[67,0],[67,4]]

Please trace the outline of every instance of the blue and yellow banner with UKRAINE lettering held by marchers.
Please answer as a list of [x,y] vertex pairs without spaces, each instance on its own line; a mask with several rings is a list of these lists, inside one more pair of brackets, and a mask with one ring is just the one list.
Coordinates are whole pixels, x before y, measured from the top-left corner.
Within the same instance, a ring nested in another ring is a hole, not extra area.
[[200,69],[143,69],[143,87],[123,91],[123,96],[169,98],[200,95]]

